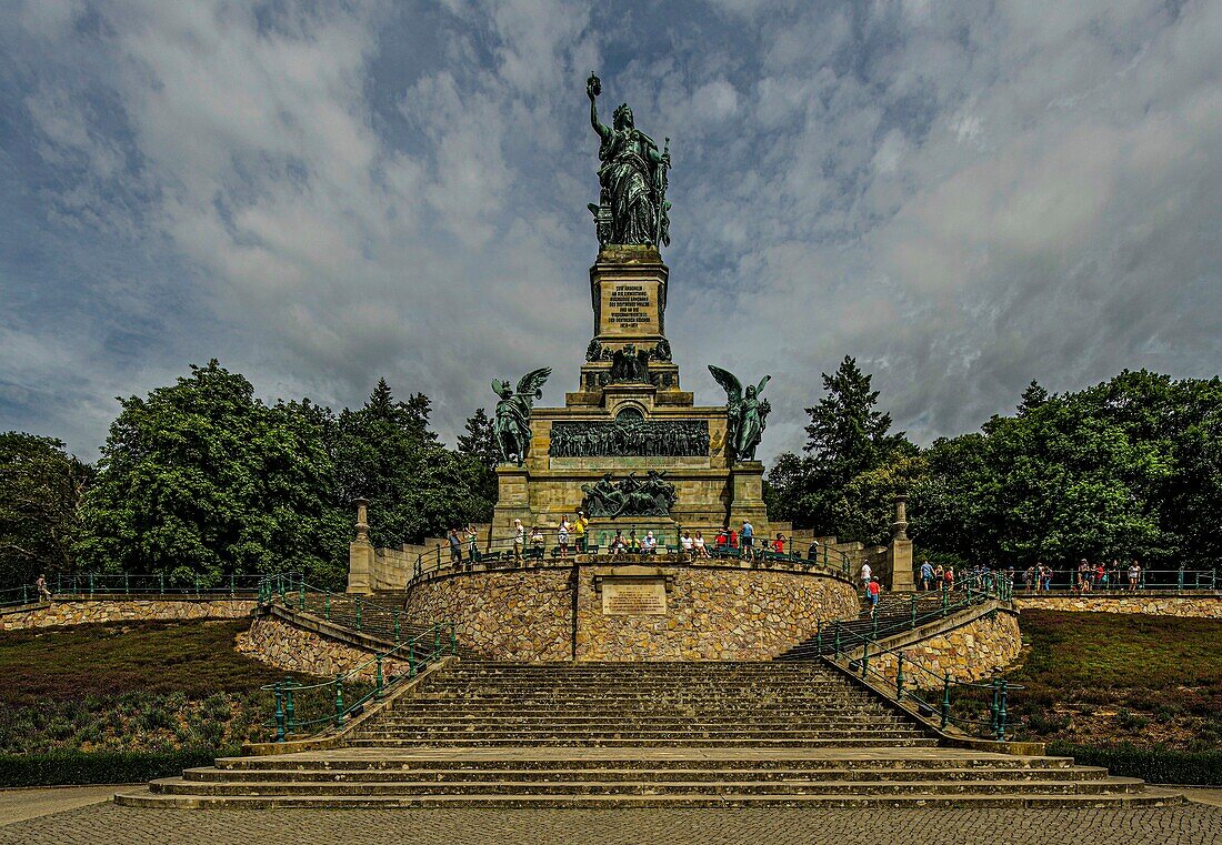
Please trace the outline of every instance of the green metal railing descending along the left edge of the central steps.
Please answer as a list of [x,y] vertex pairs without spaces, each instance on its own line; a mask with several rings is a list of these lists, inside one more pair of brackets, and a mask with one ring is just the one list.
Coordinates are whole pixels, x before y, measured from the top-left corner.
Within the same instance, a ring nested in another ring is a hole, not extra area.
[[[437,661],[456,655],[458,641],[453,623],[437,623],[423,634],[401,642],[368,661],[319,684],[298,684],[292,678],[260,686],[271,694],[275,741],[342,728],[370,703],[379,703],[404,680],[415,678]],[[370,679],[369,675],[373,675]],[[306,712],[303,713],[303,707]]]

